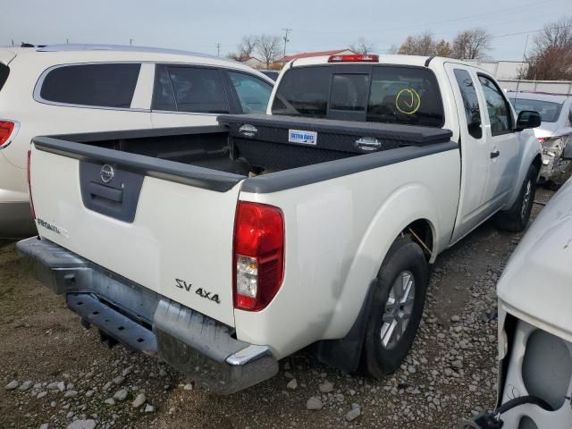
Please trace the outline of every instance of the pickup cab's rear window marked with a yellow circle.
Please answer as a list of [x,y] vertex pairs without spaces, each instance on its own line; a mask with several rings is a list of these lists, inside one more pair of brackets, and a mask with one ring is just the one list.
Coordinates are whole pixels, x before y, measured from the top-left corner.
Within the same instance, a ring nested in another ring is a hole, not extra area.
[[344,119],[340,114],[346,112],[351,120],[442,127],[441,93],[432,71],[393,65],[357,71],[355,64],[347,70],[341,65],[287,71],[272,113]]

